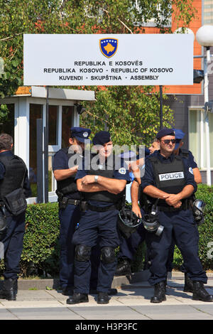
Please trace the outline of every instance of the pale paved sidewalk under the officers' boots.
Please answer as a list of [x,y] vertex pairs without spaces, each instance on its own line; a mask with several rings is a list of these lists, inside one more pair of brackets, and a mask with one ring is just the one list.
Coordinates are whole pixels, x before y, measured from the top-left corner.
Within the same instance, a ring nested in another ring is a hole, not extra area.
[[[183,285],[182,273],[174,273],[167,300],[160,304],[150,303],[153,288],[147,281],[122,284],[107,305],[97,304],[96,295],[89,296],[89,303],[70,306],[55,289],[19,290],[16,301],[0,299],[0,320],[213,320],[213,303],[192,301]],[[206,289],[213,294],[212,274]]]

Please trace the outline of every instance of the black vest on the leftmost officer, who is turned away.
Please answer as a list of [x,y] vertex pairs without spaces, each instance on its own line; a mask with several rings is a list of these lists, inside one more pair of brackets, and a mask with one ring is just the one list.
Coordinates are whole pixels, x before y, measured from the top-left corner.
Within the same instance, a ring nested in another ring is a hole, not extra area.
[[2,199],[13,190],[23,187],[26,165],[21,158],[14,154],[6,156],[0,154],[0,162],[5,167],[4,178],[0,180],[0,199]]

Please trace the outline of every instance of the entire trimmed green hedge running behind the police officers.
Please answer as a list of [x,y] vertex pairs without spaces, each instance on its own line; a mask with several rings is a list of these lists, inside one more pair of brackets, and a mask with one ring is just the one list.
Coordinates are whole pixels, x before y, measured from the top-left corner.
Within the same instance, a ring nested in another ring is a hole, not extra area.
[[[199,227],[199,256],[205,269],[213,269],[213,261],[207,256],[208,243],[213,242],[213,187],[199,185],[196,197],[206,203],[204,225]],[[26,211],[26,233],[23,240],[20,276],[58,276],[59,270],[59,230],[58,203],[28,205]],[[133,271],[143,268],[145,247],[141,245],[133,263]],[[212,251],[213,254],[213,251]],[[180,251],[176,248],[174,267],[182,264]],[[0,264],[0,274],[4,269]]]

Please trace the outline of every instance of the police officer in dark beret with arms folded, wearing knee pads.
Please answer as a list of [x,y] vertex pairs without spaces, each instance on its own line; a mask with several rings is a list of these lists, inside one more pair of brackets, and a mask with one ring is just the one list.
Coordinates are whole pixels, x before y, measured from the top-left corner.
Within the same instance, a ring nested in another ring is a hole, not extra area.
[[99,131],[92,140],[98,154],[91,163],[84,159],[84,168],[77,171],[77,188],[84,194],[87,208],[82,212],[79,228],[75,232],[75,289],[67,303],[88,301],[89,262],[91,248],[101,248],[98,271],[97,303],[109,303],[109,290],[116,270],[115,249],[119,246],[116,222],[126,183],[130,182],[125,166],[116,167],[113,144],[108,131]]

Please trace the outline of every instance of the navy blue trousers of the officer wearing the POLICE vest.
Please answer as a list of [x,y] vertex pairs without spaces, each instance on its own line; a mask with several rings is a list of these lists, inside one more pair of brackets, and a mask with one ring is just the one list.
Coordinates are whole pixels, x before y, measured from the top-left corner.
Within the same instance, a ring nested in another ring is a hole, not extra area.
[[207,283],[207,275],[198,257],[199,234],[192,211],[159,212],[159,222],[164,226],[160,237],[154,233],[146,234],[151,259],[149,283],[154,285],[167,278],[167,262],[173,239],[180,249],[190,279]]

